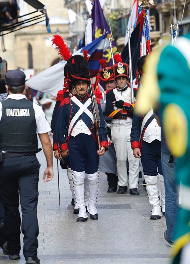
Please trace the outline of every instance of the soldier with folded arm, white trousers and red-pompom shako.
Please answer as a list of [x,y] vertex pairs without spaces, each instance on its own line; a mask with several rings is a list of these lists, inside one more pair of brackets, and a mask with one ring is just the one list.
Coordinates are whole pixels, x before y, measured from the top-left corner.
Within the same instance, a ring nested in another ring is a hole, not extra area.
[[[129,185],[130,194],[139,195],[138,177],[139,161],[133,156],[130,133],[132,127],[133,106],[131,105],[131,88],[128,84],[128,68],[122,62],[119,54],[114,55],[116,64],[112,66],[116,81],[116,88],[110,89],[106,96],[106,114],[112,117],[111,136],[116,151],[117,175],[119,189],[117,194],[127,192]],[[134,96],[137,90],[134,89]],[[127,178],[127,158],[129,161],[129,181]]]

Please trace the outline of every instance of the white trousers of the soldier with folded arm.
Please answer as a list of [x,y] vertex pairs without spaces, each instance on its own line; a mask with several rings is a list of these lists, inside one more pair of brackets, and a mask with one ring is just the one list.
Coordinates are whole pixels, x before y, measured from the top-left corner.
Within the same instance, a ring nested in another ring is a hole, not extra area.
[[[112,124],[112,141],[114,143],[117,158],[118,185],[127,186],[130,189],[138,188],[139,159],[134,158],[131,148],[132,123]],[[129,161],[129,182],[127,178],[127,158]]]

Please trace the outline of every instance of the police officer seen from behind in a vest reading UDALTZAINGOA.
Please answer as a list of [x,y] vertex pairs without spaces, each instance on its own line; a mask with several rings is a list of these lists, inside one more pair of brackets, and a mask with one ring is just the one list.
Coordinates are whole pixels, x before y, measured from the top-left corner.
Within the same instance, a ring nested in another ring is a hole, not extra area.
[[[44,182],[53,177],[53,158],[48,132],[51,128],[41,106],[26,99],[25,74],[20,70],[5,75],[8,97],[0,103],[0,197],[4,205],[3,253],[9,259],[20,259],[19,194],[22,209],[23,255],[26,264],[38,264],[38,176],[40,164],[36,158],[39,135],[47,160]],[[2,154],[2,153],[1,153]],[[2,155],[1,155],[2,156]],[[47,176],[47,177],[46,177]]]

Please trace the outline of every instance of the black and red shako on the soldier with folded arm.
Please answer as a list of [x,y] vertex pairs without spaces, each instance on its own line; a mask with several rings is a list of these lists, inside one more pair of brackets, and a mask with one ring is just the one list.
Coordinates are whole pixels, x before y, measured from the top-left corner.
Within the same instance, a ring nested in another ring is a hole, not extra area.
[[129,65],[127,63],[122,62],[122,58],[120,54],[115,54],[114,60],[116,60],[116,64],[112,66],[114,77],[125,76],[128,77]]

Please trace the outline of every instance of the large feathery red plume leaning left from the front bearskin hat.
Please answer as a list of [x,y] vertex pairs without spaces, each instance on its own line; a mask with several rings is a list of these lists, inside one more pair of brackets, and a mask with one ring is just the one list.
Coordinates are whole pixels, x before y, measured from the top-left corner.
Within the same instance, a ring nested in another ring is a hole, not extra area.
[[58,54],[61,55],[63,60],[68,60],[71,57],[70,50],[68,49],[67,43],[59,35],[53,35],[52,43],[56,45],[59,50]]

